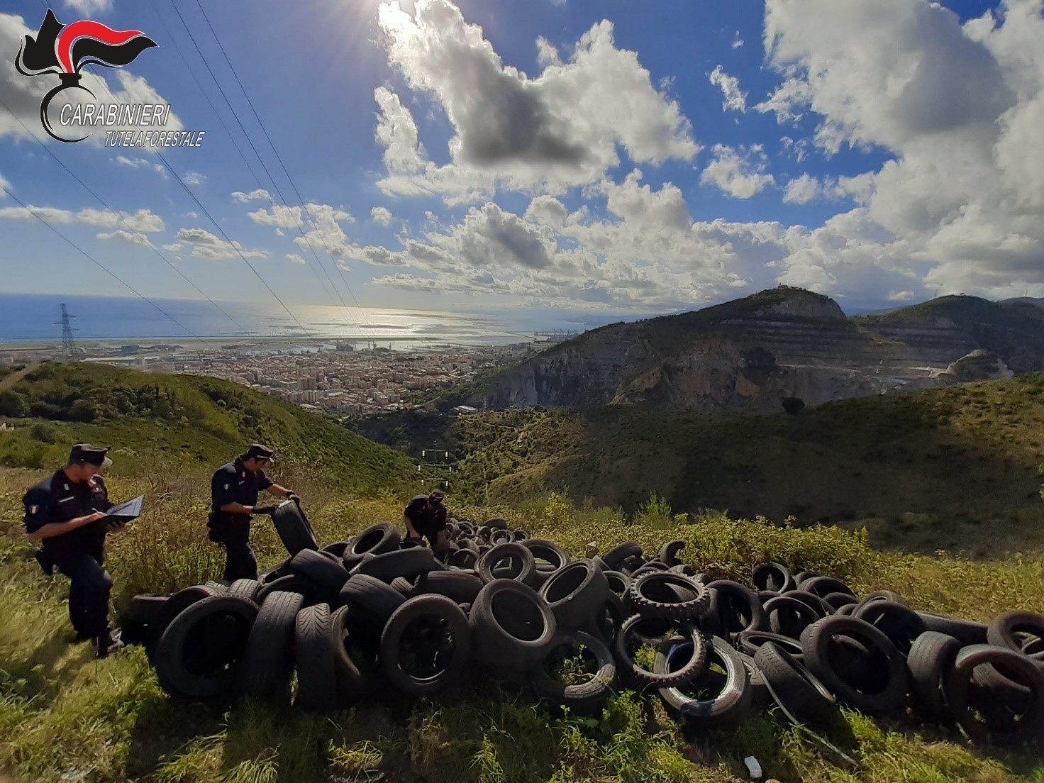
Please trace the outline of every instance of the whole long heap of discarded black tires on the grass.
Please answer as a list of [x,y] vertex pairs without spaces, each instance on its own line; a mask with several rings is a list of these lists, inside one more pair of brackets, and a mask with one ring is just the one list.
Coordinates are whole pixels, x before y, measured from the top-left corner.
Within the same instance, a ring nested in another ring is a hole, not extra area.
[[374,525],[258,580],[138,596],[125,635],[168,693],[193,699],[285,702],[295,673],[295,704],[325,711],[456,692],[477,669],[578,715],[627,688],[701,729],[770,708],[829,729],[845,706],[995,743],[1044,736],[1042,615],[917,612],[778,563],[746,585],[711,579],[679,560],[681,541],[651,560],[635,542],[573,560],[501,519],[449,531],[435,552]]

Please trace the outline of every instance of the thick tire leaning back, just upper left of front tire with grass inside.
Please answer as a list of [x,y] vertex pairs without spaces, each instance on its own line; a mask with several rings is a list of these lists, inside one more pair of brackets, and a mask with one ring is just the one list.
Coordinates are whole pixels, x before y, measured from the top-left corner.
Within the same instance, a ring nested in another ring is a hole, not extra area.
[[494,669],[532,669],[557,633],[547,601],[514,579],[485,585],[472,602],[468,621],[475,657]]

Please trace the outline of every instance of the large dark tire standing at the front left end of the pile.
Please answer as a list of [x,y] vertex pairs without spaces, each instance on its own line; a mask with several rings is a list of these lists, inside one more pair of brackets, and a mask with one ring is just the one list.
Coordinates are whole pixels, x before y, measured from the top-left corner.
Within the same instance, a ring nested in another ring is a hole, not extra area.
[[258,608],[253,601],[214,595],[179,614],[156,647],[160,686],[172,696],[214,698],[232,690]]

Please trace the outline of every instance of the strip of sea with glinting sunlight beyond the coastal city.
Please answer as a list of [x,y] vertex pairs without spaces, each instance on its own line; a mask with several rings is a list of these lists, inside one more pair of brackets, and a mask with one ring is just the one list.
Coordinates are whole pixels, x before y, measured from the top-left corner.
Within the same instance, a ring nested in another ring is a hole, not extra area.
[[[0,343],[62,340],[65,304],[76,340],[84,342],[245,341],[376,342],[400,348],[436,345],[505,346],[527,342],[538,332],[584,332],[620,321],[612,314],[565,311],[453,311],[385,307],[333,307],[276,302],[151,300],[118,296],[0,293]],[[632,316],[634,317],[634,316]],[[295,321],[294,321],[295,319]]]

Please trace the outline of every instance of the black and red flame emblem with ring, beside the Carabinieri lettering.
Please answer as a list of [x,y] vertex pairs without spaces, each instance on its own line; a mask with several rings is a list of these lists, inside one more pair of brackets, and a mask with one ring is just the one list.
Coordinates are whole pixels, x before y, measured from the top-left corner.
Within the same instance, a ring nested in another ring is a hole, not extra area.
[[94,93],[79,85],[84,66],[95,63],[105,68],[120,68],[156,45],[140,30],[114,30],[90,20],[64,25],[48,8],[35,39],[25,37],[15,58],[15,67],[23,76],[58,75],[61,84],[47,93],[40,104],[40,122],[52,139],[72,143],[84,141],[90,134],[78,139],[65,139],[54,133],[47,116],[47,108],[54,97],[63,90],[78,88],[93,98]]

